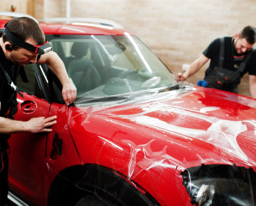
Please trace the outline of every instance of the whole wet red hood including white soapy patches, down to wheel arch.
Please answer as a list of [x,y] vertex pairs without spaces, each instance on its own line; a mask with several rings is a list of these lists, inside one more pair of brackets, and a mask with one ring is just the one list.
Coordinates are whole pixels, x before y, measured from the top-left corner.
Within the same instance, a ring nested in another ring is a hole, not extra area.
[[255,171],[254,99],[199,87],[163,94],[113,107],[71,108],[70,132],[82,162],[119,171],[158,194],[161,204],[170,198],[159,191],[167,190],[161,178],[169,179],[170,190],[177,181],[170,174],[178,170],[236,164]]

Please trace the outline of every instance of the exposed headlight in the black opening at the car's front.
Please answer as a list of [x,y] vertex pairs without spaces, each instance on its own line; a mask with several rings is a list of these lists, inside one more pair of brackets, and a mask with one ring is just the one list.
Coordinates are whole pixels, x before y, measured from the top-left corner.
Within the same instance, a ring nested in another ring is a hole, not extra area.
[[235,165],[204,165],[180,173],[183,185],[196,206],[254,206],[256,173]]

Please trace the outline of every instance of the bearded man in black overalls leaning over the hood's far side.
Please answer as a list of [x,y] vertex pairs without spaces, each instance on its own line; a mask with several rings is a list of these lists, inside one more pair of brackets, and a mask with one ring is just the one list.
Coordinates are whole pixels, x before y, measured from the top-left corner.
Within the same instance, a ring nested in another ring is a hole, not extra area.
[[186,80],[210,59],[204,80],[198,85],[238,93],[237,85],[248,72],[250,94],[256,98],[256,50],[252,48],[255,42],[256,29],[251,26],[246,26],[234,37],[216,39],[184,74],[178,73],[177,78]]

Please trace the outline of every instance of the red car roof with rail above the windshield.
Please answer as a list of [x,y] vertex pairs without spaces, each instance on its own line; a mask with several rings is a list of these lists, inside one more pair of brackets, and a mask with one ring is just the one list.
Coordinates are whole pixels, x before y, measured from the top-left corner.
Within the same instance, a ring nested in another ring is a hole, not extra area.
[[[4,29],[8,20],[0,20],[0,29]],[[125,29],[115,28],[112,26],[88,24],[88,23],[76,23],[74,24],[46,24],[39,23],[43,32],[46,35],[118,35],[124,36],[125,32],[134,36],[132,33]]]

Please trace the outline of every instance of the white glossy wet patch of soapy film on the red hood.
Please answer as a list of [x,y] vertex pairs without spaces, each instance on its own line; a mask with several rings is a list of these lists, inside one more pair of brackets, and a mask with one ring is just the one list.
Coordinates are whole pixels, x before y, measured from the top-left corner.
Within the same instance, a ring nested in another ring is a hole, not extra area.
[[[243,121],[230,121],[204,114],[204,112],[206,111],[209,112],[220,109],[218,107],[202,108],[202,113],[194,113],[193,111],[186,110],[186,108],[176,108],[161,103],[146,105],[146,107],[144,108],[146,109],[142,108],[143,112],[141,113],[132,115],[122,115],[122,118],[130,119],[130,121],[134,121],[139,124],[161,128],[167,131],[176,132],[178,134],[183,134],[190,138],[198,139],[203,142],[212,144],[216,147],[222,148],[230,153],[233,153],[233,155],[245,161],[249,160],[247,155],[245,155],[245,153],[239,147],[236,141],[237,135],[247,130],[246,125],[242,124]],[[207,130],[190,129],[168,124],[155,117],[144,116],[145,114],[161,110],[197,117],[199,119],[203,119],[204,121],[211,123],[212,125]]]

